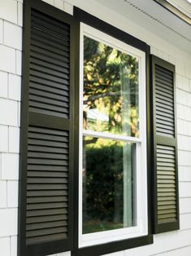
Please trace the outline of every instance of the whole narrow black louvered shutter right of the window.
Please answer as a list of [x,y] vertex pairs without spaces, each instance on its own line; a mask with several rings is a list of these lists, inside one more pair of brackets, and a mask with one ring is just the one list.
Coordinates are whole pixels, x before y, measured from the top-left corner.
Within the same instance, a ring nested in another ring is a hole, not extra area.
[[175,66],[151,56],[154,233],[179,228]]

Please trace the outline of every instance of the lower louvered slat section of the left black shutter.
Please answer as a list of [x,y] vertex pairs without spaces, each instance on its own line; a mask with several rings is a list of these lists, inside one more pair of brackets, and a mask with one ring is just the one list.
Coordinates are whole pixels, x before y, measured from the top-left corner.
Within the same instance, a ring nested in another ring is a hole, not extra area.
[[68,140],[68,131],[28,127],[27,245],[68,236]]

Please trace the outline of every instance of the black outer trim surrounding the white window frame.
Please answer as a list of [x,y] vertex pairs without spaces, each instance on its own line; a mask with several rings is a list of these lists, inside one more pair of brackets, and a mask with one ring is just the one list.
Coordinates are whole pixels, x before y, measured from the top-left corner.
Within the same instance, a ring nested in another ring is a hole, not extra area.
[[[89,26],[93,27],[94,29],[98,29],[103,33],[110,35],[113,38],[117,38],[118,40],[127,43],[130,46],[136,47],[137,49],[145,52],[145,74],[146,74],[146,114],[147,114],[147,121],[146,121],[146,128],[147,128],[147,193],[148,193],[148,235],[146,236],[139,236],[131,239],[126,239],[123,241],[114,241],[111,243],[106,243],[102,245],[92,245],[88,247],[79,248],[78,240],[78,218],[79,218],[79,211],[78,211],[78,198],[79,198],[79,150],[76,148],[74,159],[76,160],[75,164],[75,171],[74,171],[74,191],[76,194],[74,195],[74,249],[72,250],[72,256],[98,256],[102,254],[109,254],[114,253],[119,250],[130,249],[142,245],[149,245],[153,243],[153,235],[152,235],[152,219],[151,219],[151,201],[153,198],[151,197],[151,130],[150,130],[150,102],[151,102],[151,93],[150,93],[150,46],[148,46],[145,42],[134,38],[132,35],[125,33],[124,31],[115,28],[111,24],[106,23],[103,20],[98,19],[97,17],[90,15],[86,11],[81,10],[78,7],[74,7],[73,15],[76,20],[79,20],[82,23],[88,24]],[[80,60],[79,60],[80,62]],[[78,74],[79,76],[79,74]],[[79,77],[78,77],[79,79]],[[76,88],[76,95],[79,95],[79,89]],[[78,98],[78,97],[77,97]],[[76,114],[75,116],[79,118],[79,99],[75,100],[76,102]],[[79,119],[76,118],[76,127],[79,124]],[[78,133],[76,132],[76,139],[75,141],[79,141]]]

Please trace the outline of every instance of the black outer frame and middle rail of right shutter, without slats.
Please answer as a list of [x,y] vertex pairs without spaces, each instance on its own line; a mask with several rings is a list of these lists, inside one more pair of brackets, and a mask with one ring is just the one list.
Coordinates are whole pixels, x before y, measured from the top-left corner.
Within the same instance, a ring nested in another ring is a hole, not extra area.
[[[174,123],[175,123],[175,136],[167,137],[163,135],[157,135],[156,133],[156,91],[155,91],[155,64],[160,67],[166,68],[173,73],[173,86],[174,86]],[[177,230],[180,228],[180,216],[179,216],[179,190],[178,190],[178,156],[177,156],[177,127],[176,127],[176,81],[175,81],[175,66],[168,63],[165,60],[162,60],[154,55],[150,55],[150,89],[152,93],[152,103],[151,106],[151,127],[152,127],[152,170],[153,170],[153,233],[169,232]],[[159,223],[158,224],[158,206],[157,206],[157,159],[156,159],[156,145],[166,145],[175,148],[175,157],[176,157],[176,215],[177,220],[169,223]]]

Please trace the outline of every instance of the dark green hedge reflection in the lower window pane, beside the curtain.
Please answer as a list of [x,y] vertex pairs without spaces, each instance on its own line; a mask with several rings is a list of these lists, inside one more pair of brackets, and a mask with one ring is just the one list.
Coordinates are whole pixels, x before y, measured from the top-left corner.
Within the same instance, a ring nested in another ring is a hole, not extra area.
[[98,139],[84,145],[84,150],[83,232],[124,227],[122,143]]

